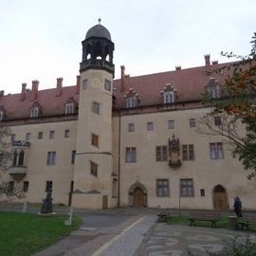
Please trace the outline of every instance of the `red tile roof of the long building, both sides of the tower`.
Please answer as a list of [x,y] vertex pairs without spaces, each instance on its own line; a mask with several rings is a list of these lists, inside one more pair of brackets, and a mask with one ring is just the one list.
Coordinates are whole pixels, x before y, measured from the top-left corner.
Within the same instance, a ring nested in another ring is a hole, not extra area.
[[[216,64],[215,67],[223,65]],[[123,96],[127,94],[130,88],[133,88],[138,94],[138,105],[161,103],[163,100],[160,92],[164,90],[167,83],[174,85],[174,89],[177,90],[178,101],[198,99],[205,91],[205,86],[210,78],[215,78],[223,83],[227,76],[227,71],[224,74],[212,73],[208,76],[205,70],[205,66],[199,66],[138,77],[125,76],[123,91],[120,88],[121,80],[115,80],[116,106],[125,106]],[[28,91],[24,101],[21,101],[21,94],[0,96],[0,106],[6,110],[8,119],[29,117],[29,110],[34,102],[31,101],[31,94],[31,91]],[[79,103],[79,94],[76,93],[75,85],[63,87],[61,96],[56,96],[56,88],[38,91],[38,97],[35,101],[38,101],[42,106],[43,116],[62,115],[64,114],[65,101],[72,97]]]

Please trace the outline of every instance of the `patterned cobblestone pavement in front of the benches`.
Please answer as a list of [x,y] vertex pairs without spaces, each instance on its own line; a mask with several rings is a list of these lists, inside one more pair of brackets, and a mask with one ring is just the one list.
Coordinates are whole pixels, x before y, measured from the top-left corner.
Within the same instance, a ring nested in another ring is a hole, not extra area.
[[158,223],[140,248],[137,256],[205,256],[207,251],[217,252],[232,241],[256,243],[255,233],[209,229]]

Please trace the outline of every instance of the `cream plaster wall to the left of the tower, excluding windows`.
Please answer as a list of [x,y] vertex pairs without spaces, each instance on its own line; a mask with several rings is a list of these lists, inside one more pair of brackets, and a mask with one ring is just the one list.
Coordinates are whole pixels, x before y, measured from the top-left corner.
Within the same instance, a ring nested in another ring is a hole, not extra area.
[[[15,140],[25,140],[26,134],[30,133],[30,147],[25,161],[27,175],[18,183],[23,186],[24,181],[29,182],[26,200],[41,202],[46,197],[46,181],[52,181],[53,203],[68,204],[70,182],[74,176],[71,153],[76,150],[77,121],[24,124],[10,128]],[[69,130],[70,137],[64,137],[65,130]],[[55,132],[54,138],[49,138],[50,131]],[[43,132],[42,139],[38,139],[39,132]],[[53,151],[56,152],[56,164],[46,165],[47,152]],[[13,180],[9,174],[5,174],[3,179]]]

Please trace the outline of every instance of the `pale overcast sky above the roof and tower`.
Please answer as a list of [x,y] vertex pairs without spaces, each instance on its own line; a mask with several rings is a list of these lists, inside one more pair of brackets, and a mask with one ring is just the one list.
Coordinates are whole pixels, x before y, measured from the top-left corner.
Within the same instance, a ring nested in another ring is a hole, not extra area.
[[120,65],[131,76],[228,60],[220,52],[247,54],[256,31],[255,0],[0,0],[0,90],[19,93],[74,85],[82,40],[90,27],[106,27]]

